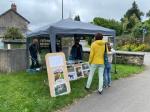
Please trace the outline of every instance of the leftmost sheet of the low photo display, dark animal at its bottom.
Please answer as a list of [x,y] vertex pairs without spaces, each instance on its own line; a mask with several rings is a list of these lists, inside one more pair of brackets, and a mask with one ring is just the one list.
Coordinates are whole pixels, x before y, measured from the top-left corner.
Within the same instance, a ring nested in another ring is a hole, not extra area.
[[68,69],[69,80],[76,80],[77,79],[77,74],[75,72],[74,66],[73,65],[68,65],[67,69]]

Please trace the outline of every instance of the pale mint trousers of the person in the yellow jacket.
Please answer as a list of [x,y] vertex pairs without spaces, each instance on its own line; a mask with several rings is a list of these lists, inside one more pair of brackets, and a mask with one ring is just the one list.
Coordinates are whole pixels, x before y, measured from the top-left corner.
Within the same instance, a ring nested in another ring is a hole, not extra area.
[[95,70],[98,68],[98,76],[99,76],[99,87],[98,90],[103,90],[103,73],[104,73],[104,65],[103,64],[91,64],[90,66],[90,74],[88,76],[86,88],[90,88],[93,75],[95,73]]

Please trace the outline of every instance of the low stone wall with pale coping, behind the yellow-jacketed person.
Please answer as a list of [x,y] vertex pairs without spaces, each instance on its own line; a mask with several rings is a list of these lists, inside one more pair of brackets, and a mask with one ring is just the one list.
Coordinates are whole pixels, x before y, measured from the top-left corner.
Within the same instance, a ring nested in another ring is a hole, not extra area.
[[[83,57],[85,61],[89,59],[89,51],[84,51]],[[130,65],[143,65],[144,53],[138,52],[116,52],[116,63],[117,64],[130,64]],[[115,55],[113,57],[113,63],[115,63]]]

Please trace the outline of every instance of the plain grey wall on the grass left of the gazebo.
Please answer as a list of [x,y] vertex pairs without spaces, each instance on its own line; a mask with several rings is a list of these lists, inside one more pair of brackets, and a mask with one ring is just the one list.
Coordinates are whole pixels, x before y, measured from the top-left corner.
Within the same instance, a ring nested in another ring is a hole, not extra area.
[[0,49],[0,72],[26,69],[26,49]]

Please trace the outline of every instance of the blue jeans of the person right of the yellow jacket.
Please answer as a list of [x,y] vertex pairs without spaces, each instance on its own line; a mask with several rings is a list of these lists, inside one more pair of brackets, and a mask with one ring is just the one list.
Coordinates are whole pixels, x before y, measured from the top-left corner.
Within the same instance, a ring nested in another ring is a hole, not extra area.
[[107,87],[111,84],[111,63],[105,65],[104,69],[104,86]]

